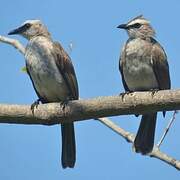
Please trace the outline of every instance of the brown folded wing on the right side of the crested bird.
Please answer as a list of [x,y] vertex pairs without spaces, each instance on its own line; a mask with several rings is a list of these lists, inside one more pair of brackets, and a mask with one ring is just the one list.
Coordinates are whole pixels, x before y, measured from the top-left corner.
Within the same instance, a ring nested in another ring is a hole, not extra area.
[[152,47],[152,66],[158,81],[159,89],[170,89],[171,80],[169,75],[169,65],[167,62],[167,56],[161,45],[155,41]]

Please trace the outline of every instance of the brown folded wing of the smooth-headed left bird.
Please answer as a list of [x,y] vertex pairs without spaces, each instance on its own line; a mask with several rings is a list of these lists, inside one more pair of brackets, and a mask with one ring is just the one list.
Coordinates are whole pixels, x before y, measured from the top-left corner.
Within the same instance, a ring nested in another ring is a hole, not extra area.
[[78,83],[71,59],[58,42],[54,42],[53,46],[55,62],[70,91],[70,98],[78,99]]

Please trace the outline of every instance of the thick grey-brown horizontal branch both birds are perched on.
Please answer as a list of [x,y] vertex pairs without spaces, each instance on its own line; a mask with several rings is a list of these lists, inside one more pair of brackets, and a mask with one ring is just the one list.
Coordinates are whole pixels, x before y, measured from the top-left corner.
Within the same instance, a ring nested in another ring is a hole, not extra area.
[[58,124],[99,117],[144,114],[180,109],[180,90],[135,92],[121,96],[69,101],[63,112],[60,103],[39,105],[34,115],[27,105],[0,105],[0,123]]

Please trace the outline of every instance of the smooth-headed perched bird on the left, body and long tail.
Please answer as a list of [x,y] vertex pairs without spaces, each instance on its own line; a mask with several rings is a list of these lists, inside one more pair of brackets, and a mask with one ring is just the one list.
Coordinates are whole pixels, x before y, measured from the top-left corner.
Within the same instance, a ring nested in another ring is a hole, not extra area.
[[[25,21],[8,33],[19,34],[29,40],[26,50],[26,68],[42,103],[62,102],[79,98],[78,83],[70,57],[58,42],[54,42],[40,20]],[[35,105],[33,104],[33,105]],[[33,107],[33,106],[32,106]],[[61,124],[62,167],[73,168],[76,161],[73,123]]]

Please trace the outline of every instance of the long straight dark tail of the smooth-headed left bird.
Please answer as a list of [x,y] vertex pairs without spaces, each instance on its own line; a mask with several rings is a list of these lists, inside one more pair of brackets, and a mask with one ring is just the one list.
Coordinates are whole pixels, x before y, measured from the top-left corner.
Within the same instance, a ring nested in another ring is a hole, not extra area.
[[62,167],[73,168],[76,161],[76,144],[73,123],[64,123],[61,125],[62,133]]

